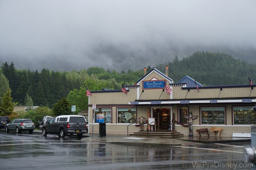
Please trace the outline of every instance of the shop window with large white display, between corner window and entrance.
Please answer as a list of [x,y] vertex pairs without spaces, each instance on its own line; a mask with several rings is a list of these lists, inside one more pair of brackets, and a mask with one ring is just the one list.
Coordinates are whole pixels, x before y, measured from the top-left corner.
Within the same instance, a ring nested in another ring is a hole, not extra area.
[[118,108],[117,123],[135,123],[136,108]]

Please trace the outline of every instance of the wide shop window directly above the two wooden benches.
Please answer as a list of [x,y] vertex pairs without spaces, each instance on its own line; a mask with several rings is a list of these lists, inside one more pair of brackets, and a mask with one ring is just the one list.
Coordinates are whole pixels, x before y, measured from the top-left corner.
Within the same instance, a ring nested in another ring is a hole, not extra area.
[[225,124],[224,107],[202,107],[202,124]]

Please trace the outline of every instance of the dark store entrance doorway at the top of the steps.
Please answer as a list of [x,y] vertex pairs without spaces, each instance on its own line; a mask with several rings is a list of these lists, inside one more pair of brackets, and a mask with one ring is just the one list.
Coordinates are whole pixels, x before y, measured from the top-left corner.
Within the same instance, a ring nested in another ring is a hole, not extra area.
[[170,108],[152,108],[152,116],[155,118],[156,130],[168,130],[171,122]]

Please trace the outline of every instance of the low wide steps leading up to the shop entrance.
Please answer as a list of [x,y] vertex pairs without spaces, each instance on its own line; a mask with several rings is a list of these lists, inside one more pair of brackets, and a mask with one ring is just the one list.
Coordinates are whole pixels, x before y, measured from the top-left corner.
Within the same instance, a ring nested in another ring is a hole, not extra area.
[[129,134],[129,136],[137,137],[158,137],[158,138],[180,138],[183,137],[183,134],[177,131],[167,131],[167,130],[158,130],[158,131],[139,131]]

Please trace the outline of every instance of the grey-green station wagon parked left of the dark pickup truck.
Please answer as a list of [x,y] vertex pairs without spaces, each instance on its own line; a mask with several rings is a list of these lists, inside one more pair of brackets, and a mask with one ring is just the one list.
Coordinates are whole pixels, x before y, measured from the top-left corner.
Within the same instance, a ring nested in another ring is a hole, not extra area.
[[5,125],[5,131],[9,132],[9,130],[16,130],[16,133],[20,133],[21,131],[29,131],[33,132],[35,129],[35,124],[31,119],[14,119],[11,123]]

